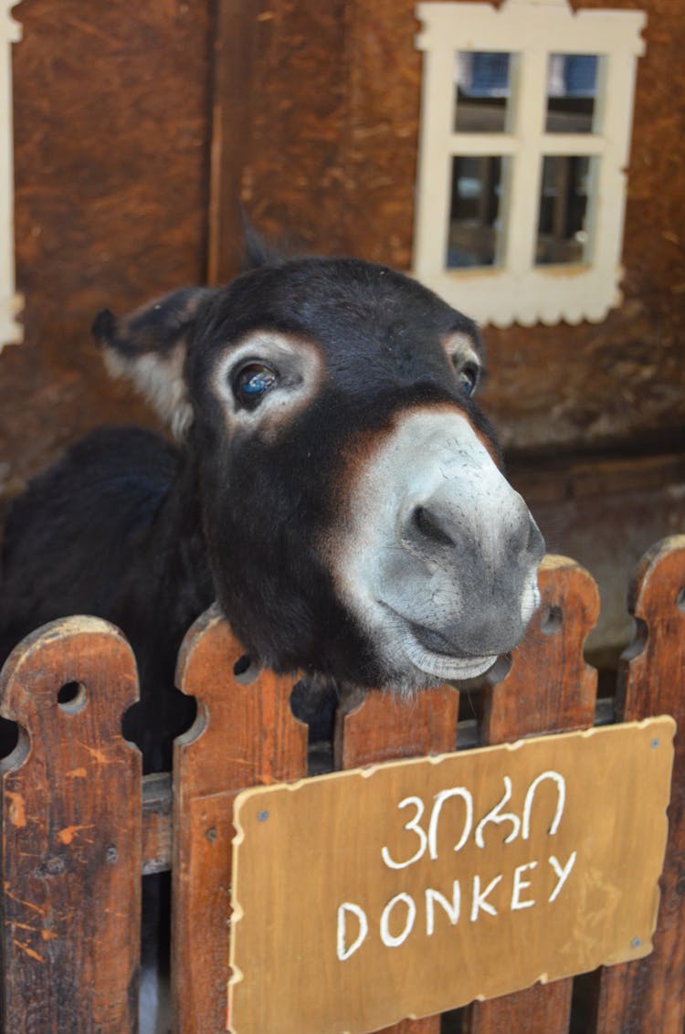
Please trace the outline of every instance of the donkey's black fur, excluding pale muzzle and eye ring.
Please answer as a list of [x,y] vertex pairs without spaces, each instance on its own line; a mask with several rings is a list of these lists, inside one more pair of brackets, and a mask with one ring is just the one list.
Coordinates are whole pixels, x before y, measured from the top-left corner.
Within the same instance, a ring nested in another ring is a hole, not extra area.
[[[255,328],[313,341],[325,376],[276,440],[236,433],[208,387],[217,356]],[[344,506],[361,436],[415,406],[458,406],[441,339],[474,325],[414,281],[353,260],[263,266],[222,290],[186,288],[94,326],[124,360],[188,346],[193,420],[183,446],[133,428],[93,432],[37,477],[10,512],[0,586],[0,661],[38,625],[91,613],[135,651],[142,703],[129,735],[148,770],[168,765],[191,702],[173,690],[181,639],[216,597],[246,649],[277,670],[375,686],[373,644],[339,602],[318,544]]]

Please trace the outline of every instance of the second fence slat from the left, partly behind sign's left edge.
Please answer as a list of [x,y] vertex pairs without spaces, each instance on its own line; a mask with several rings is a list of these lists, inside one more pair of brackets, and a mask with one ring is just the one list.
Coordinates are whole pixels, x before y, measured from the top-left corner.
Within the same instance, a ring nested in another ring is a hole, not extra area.
[[179,658],[177,681],[196,698],[199,720],[174,754],[172,997],[180,1034],[226,1027],[236,794],[307,772],[307,728],[289,704],[292,679],[264,670],[243,685],[233,675],[242,655],[213,607]]

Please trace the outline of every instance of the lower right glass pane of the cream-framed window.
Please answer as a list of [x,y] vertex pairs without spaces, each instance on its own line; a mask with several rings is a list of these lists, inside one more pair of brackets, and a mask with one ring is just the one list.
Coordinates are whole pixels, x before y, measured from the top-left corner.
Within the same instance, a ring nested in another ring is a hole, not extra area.
[[536,265],[587,261],[588,195],[596,160],[586,155],[542,159]]

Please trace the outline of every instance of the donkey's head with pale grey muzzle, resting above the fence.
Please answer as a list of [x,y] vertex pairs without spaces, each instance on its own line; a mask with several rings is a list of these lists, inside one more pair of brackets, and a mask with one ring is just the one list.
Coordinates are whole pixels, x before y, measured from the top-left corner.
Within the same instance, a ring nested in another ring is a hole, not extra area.
[[217,599],[261,662],[412,690],[521,639],[543,542],[474,401],[470,320],[311,258],[94,330],[181,433]]

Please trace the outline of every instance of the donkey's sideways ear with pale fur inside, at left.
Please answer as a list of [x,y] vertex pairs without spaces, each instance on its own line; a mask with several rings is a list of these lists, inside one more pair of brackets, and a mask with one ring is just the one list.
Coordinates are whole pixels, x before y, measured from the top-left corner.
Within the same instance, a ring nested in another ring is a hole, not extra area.
[[215,294],[185,287],[119,320],[102,309],[93,323],[110,373],[130,377],[177,437],[192,422],[184,378],[188,341],[198,311]]

